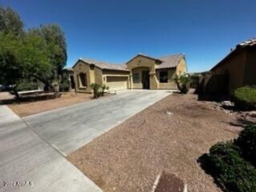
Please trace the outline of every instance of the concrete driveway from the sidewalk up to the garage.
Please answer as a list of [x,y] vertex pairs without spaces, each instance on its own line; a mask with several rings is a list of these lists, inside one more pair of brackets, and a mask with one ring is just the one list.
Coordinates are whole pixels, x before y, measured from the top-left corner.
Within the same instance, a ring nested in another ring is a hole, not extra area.
[[165,90],[119,91],[108,98],[24,119],[40,137],[67,155],[170,93]]

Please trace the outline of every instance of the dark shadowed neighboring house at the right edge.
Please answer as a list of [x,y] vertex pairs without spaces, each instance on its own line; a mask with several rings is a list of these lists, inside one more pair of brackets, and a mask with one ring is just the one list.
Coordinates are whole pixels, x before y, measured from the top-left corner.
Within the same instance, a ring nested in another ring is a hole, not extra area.
[[241,86],[256,85],[256,38],[238,44],[210,71],[205,86],[212,92],[231,93]]

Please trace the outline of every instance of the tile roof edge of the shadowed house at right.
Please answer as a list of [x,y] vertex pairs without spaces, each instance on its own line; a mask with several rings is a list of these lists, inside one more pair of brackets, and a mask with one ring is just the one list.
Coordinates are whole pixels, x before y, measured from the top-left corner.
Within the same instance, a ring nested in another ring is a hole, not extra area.
[[234,50],[231,50],[231,52],[225,58],[223,58],[219,63],[217,63],[217,65],[215,65],[210,71],[213,71],[214,69],[217,69],[218,67],[220,67],[222,63],[225,63],[224,61],[226,61],[230,57],[233,57],[238,51],[241,51],[242,49],[250,46],[256,46],[255,37],[236,45],[236,48]]

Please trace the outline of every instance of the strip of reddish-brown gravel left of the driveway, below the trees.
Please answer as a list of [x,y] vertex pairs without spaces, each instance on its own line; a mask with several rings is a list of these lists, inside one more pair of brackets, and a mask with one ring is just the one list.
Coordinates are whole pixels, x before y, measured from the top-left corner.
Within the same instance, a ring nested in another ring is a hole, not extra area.
[[34,102],[17,102],[7,105],[12,111],[20,117],[41,113],[47,110],[57,109],[74,105],[75,103],[90,101],[91,94],[63,92],[60,98],[34,101]]

